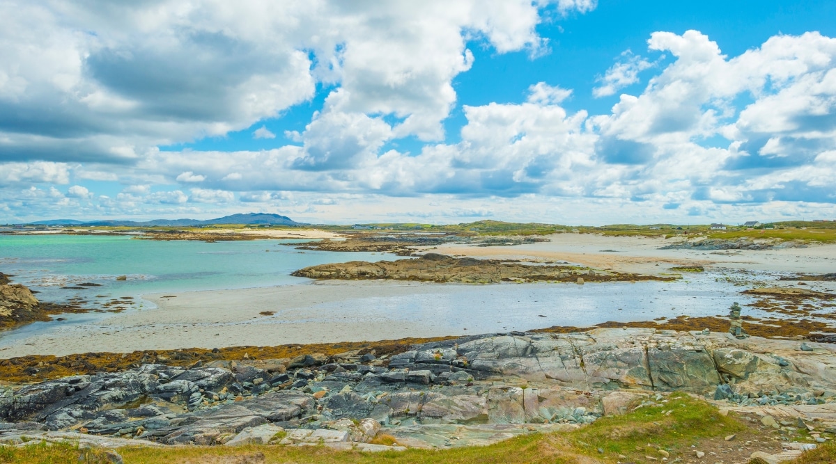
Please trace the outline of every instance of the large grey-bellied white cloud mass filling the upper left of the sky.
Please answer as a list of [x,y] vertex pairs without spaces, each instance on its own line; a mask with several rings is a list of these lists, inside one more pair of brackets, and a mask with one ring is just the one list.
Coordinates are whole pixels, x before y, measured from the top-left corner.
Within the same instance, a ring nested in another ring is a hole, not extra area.
[[[135,164],[159,145],[275,118],[318,83],[343,91],[336,112],[391,115],[396,137],[440,140],[452,79],[472,66],[467,41],[542,49],[547,5],[4,3],[0,150],[7,160]],[[564,13],[592,8],[558,2]]]

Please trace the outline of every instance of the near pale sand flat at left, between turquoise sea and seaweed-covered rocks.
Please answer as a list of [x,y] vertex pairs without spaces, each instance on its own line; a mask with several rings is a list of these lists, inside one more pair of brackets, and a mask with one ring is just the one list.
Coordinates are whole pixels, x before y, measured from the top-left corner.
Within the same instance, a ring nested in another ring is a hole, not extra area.
[[[145,295],[158,305],[112,315],[90,324],[57,328],[0,348],[0,358],[88,351],[127,352],[185,347],[283,345],[328,341],[387,340],[461,333],[443,320],[406,320],[353,305],[370,295],[387,298],[437,292],[412,282],[325,282],[237,290]],[[448,289],[450,290],[450,289]],[[176,295],[176,298],[164,296]],[[339,317],[317,305],[342,302]],[[277,311],[261,315],[261,311]]]

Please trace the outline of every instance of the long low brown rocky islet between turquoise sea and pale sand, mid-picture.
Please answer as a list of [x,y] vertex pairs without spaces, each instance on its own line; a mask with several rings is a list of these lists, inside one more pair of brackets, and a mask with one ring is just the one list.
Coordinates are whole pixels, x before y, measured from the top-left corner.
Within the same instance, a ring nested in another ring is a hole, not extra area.
[[516,261],[477,260],[427,253],[414,260],[349,261],[309,266],[298,277],[339,280],[415,280],[438,283],[494,284],[499,282],[616,282],[675,280],[675,277],[626,274],[572,265],[525,265]]

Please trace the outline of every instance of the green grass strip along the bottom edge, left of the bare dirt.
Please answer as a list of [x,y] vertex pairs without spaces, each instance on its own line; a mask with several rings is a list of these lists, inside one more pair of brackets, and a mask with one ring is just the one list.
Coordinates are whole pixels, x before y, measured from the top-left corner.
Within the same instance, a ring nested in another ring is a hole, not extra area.
[[[670,411],[670,412],[668,412]],[[391,464],[485,462],[516,463],[579,463],[618,461],[618,455],[640,459],[658,449],[670,452],[671,459],[689,449],[701,438],[726,436],[742,429],[739,422],[721,416],[715,407],[691,396],[674,393],[666,403],[645,406],[624,416],[604,417],[579,431],[568,433],[517,436],[492,446],[474,446],[439,451],[410,449],[361,453],[334,451],[325,446],[177,446],[171,448],[122,448],[126,463],[155,464],[167,462],[225,462],[225,457],[262,453],[268,463]],[[650,444],[650,448],[648,448]],[[637,450],[636,448],[639,448]],[[601,448],[603,453],[599,452]],[[23,448],[0,447],[0,462],[5,463],[68,463],[79,460],[81,451],[72,445],[44,446],[34,443]],[[92,454],[95,462],[99,455]],[[644,459],[642,459],[644,461]],[[807,461],[805,461],[807,462]],[[820,461],[808,461],[810,463]],[[823,461],[821,461],[823,462]]]

